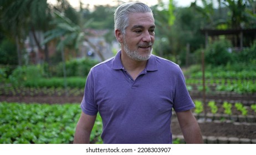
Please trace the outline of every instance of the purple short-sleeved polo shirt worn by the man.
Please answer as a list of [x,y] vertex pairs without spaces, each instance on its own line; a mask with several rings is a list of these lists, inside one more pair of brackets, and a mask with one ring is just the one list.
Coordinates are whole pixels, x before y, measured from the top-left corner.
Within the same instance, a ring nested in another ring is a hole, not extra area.
[[104,143],[172,143],[172,108],[194,108],[180,67],[152,55],[134,81],[120,56],[90,70],[81,109],[100,113]]

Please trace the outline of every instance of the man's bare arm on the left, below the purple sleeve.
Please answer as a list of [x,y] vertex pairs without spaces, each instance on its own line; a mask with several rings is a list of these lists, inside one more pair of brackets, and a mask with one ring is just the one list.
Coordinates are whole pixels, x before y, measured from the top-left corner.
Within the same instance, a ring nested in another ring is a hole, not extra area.
[[86,115],[84,112],[81,112],[78,124],[75,129],[74,144],[89,144],[91,130],[93,129],[96,116]]

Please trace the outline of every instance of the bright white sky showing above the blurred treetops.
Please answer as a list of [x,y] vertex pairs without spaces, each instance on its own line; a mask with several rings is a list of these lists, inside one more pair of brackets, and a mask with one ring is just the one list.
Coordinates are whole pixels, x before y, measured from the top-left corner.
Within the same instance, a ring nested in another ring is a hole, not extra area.
[[[48,0],[50,3],[55,3],[56,0]],[[71,4],[71,6],[73,6],[74,8],[79,8],[79,0],[68,0],[69,3]],[[123,2],[129,2],[129,0],[122,0]],[[169,0],[163,0],[163,2],[165,2],[166,4],[168,4]],[[94,5],[104,5],[104,4],[116,4],[117,0],[93,0],[93,1],[89,1],[89,0],[81,0],[81,2],[83,4],[89,4],[90,7],[93,7]],[[145,4],[147,4],[148,6],[153,6],[155,4],[157,4],[157,0],[140,0],[140,2],[143,2]],[[173,2],[175,3],[175,6],[177,7],[188,7],[190,6],[191,2],[194,2],[194,0],[173,0]]]

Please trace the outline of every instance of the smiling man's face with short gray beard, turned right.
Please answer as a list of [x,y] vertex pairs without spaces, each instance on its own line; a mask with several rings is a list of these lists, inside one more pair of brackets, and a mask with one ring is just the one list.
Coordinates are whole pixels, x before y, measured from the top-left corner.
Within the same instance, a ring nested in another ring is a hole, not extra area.
[[124,42],[125,53],[134,60],[148,60],[155,41],[155,24],[151,13],[132,13],[126,28]]

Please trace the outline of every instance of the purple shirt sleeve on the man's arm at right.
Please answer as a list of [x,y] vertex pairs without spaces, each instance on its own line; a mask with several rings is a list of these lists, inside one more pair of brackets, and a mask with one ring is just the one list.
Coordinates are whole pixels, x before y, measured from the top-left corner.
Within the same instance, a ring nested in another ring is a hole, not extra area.
[[175,86],[175,97],[173,100],[173,109],[176,112],[187,111],[194,108],[194,103],[187,90],[185,77],[180,69],[178,68]]

